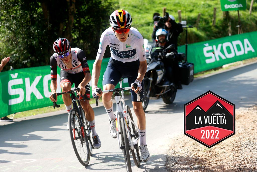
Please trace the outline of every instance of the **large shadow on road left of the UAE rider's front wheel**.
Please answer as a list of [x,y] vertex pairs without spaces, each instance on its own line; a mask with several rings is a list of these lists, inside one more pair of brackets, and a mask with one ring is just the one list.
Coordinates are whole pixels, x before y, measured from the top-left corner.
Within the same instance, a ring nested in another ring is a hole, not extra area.
[[[68,121],[67,114],[60,114],[56,116],[49,116],[38,119],[29,119],[19,122],[14,122],[12,124],[0,126],[0,148],[10,147],[10,148],[27,148],[27,141],[40,140],[40,141],[60,141],[59,139],[47,139],[42,136],[31,134],[35,131],[57,131],[65,130],[60,128],[52,128],[53,126],[63,125]],[[65,130],[66,131],[66,130]],[[31,153],[25,152],[9,152],[5,149],[0,149],[0,154],[20,154],[29,155]]]

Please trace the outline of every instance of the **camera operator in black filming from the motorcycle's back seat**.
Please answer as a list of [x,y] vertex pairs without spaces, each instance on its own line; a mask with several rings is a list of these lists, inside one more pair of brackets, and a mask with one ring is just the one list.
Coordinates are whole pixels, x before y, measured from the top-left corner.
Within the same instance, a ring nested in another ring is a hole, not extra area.
[[[157,13],[155,13],[157,14]],[[168,47],[171,44],[174,44],[176,46],[177,50],[177,44],[178,44],[178,36],[181,32],[183,32],[182,24],[176,23],[175,18],[172,15],[169,15],[169,13],[166,12],[166,15],[162,18],[158,15],[155,15],[153,17],[154,21],[158,21],[158,23],[155,22],[155,26],[152,33],[152,38],[156,38],[156,31],[160,28],[166,29],[168,31],[168,36],[166,40],[166,47]],[[165,47],[165,48],[166,48]]]

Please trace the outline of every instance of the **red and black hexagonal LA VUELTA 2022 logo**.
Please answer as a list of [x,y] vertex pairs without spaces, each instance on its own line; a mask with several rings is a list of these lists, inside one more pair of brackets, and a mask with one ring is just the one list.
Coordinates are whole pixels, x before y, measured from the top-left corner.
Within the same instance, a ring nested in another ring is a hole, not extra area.
[[235,105],[208,91],[184,105],[184,134],[208,148],[235,134]]

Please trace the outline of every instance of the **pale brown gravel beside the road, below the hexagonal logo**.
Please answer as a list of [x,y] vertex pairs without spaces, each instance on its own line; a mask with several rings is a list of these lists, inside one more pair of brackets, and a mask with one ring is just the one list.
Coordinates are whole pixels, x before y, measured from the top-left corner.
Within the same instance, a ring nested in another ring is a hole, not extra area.
[[236,134],[207,148],[186,135],[170,139],[168,171],[257,171],[257,105],[236,110]]

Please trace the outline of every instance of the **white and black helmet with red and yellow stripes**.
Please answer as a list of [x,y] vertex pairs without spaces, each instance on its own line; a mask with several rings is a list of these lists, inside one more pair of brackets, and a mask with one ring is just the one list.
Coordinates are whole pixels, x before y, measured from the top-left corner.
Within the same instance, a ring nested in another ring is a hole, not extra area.
[[115,10],[110,16],[110,24],[114,29],[129,28],[132,24],[131,15],[126,10]]

